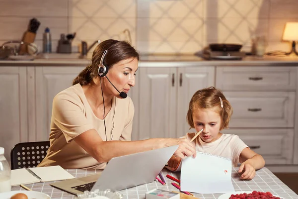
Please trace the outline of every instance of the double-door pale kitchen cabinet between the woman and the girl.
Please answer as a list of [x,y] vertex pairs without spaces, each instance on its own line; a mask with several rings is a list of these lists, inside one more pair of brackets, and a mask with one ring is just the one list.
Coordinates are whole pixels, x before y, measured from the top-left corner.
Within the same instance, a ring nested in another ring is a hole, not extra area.
[[192,95],[214,85],[214,67],[140,68],[138,139],[180,137],[188,132]]

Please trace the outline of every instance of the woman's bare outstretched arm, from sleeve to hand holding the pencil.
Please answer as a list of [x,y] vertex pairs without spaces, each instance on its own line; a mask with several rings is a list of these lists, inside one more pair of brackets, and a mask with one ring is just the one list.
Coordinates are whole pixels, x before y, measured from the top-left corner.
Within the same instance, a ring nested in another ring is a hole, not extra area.
[[87,130],[74,141],[99,163],[108,162],[113,157],[123,156],[152,149],[179,145],[174,153],[177,157],[196,155],[195,145],[186,138],[152,138],[140,141],[103,141],[95,129]]

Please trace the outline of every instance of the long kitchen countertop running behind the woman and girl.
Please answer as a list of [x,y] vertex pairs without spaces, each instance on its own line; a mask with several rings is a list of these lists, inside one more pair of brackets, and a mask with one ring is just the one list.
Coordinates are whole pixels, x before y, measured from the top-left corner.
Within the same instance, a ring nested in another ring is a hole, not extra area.
[[[86,66],[91,63],[90,57],[79,59],[78,54],[52,54],[48,58],[37,58],[33,61],[2,60],[0,66]],[[298,56],[246,56],[242,60],[205,60],[195,55],[141,55],[140,67],[174,67],[174,66],[298,66]]]

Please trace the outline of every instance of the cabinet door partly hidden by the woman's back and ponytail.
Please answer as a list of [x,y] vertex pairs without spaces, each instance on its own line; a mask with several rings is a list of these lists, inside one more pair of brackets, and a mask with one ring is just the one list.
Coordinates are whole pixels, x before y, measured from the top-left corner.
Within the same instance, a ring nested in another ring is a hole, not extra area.
[[36,139],[48,140],[54,97],[72,86],[84,67],[36,67]]

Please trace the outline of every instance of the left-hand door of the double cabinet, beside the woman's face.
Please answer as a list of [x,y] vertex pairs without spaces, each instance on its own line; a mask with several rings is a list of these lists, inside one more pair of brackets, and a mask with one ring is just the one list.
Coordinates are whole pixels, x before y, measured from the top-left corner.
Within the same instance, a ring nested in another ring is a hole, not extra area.
[[176,137],[176,68],[140,68],[139,140]]

